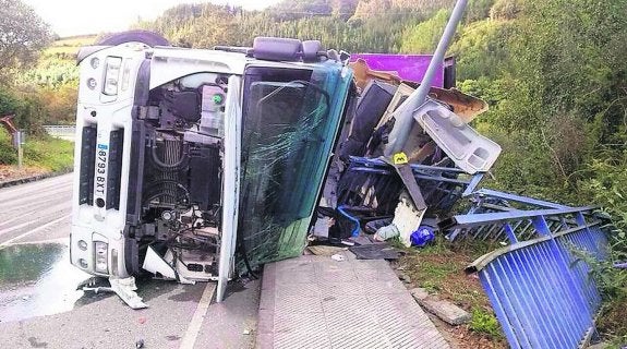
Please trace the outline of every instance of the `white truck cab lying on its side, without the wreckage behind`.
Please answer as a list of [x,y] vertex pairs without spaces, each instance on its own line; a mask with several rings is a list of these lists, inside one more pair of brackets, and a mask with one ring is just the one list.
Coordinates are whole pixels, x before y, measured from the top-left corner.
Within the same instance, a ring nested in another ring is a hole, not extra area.
[[71,262],[217,280],[220,301],[238,265],[304,243],[351,72],[317,41],[126,41],[79,57]]

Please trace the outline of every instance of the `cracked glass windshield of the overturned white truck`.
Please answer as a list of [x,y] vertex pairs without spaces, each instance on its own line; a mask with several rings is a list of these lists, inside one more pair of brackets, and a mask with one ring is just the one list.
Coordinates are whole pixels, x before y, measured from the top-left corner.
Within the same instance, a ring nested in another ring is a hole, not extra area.
[[337,118],[329,118],[326,74],[305,69],[246,71],[238,230],[253,264],[285,256],[284,249],[304,243],[322,180],[316,173],[324,173],[325,148],[337,128]]

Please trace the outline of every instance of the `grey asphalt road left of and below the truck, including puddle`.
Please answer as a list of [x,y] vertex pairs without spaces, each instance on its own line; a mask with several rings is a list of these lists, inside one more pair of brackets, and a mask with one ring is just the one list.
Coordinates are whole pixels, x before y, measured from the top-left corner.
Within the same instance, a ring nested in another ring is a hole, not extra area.
[[138,311],[75,291],[88,276],[67,254],[71,192],[72,173],[0,190],[0,348],[254,346],[257,280],[231,285],[220,304],[213,284],[137,280],[149,305]]

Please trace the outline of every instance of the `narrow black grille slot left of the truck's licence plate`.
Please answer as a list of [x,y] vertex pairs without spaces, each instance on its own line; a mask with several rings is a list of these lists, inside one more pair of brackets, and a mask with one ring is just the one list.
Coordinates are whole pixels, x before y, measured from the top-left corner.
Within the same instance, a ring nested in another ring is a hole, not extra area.
[[79,204],[94,205],[94,167],[96,166],[96,128],[84,127],[81,143]]

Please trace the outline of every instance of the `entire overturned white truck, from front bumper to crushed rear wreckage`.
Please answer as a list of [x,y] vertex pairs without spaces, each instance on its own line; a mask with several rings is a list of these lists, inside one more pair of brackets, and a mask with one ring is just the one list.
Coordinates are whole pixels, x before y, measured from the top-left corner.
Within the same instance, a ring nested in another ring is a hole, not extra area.
[[221,301],[228,280],[301,254],[308,236],[374,227],[409,245],[501,153],[468,125],[487,106],[450,88],[454,61],[420,86],[402,73],[420,59],[285,38],[184,49],[142,31],[83,48],[72,264],[140,308],[145,272],[217,281]]

